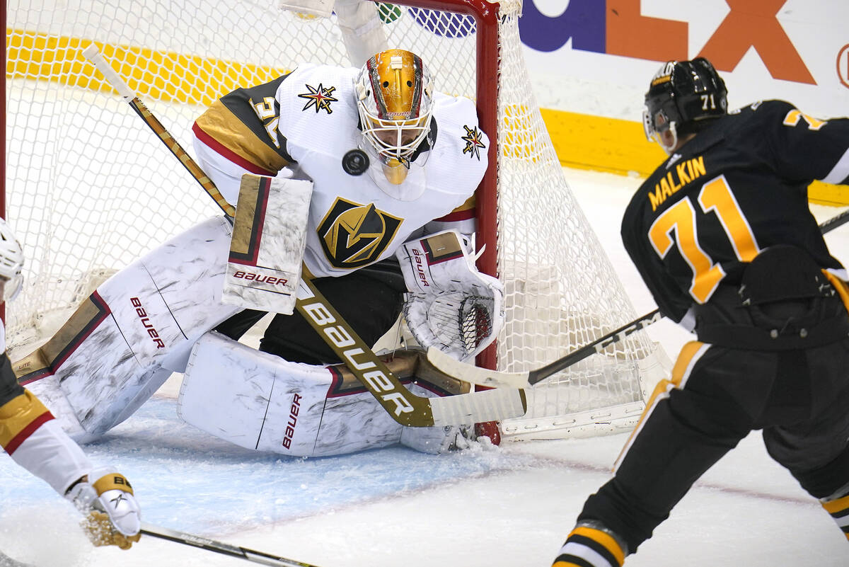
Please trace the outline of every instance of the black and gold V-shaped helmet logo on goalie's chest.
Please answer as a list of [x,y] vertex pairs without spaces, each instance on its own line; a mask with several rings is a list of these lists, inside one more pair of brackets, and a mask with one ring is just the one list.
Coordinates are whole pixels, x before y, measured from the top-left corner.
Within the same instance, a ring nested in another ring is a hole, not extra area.
[[363,267],[380,258],[401,222],[374,204],[358,205],[337,197],[318,225],[318,239],[333,267]]

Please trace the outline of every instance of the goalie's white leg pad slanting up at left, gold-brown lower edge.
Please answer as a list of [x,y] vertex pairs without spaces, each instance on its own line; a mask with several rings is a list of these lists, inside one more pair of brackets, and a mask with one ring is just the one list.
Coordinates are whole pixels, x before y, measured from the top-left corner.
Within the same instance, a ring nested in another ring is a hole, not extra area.
[[238,311],[221,302],[229,239],[228,222],[214,217],[116,273],[14,364],[20,383],[77,441],[121,423],[183,371],[201,334]]

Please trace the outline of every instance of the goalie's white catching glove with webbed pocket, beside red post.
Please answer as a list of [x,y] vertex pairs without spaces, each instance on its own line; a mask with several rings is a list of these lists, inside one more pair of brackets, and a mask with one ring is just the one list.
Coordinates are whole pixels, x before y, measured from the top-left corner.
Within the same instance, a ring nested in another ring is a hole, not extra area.
[[504,322],[503,286],[478,272],[473,252],[454,230],[410,240],[396,251],[409,290],[403,310],[410,333],[424,348],[461,361],[490,345]]

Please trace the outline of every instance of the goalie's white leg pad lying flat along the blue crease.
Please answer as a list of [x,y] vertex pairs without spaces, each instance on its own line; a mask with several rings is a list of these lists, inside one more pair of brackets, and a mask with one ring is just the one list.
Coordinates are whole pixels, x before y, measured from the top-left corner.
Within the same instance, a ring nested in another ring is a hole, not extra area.
[[[390,446],[402,440],[402,429],[412,429],[362,388],[340,387],[332,367],[288,362],[216,333],[195,343],[177,408],[188,424],[225,441],[296,457]],[[434,443],[413,445],[436,452]]]

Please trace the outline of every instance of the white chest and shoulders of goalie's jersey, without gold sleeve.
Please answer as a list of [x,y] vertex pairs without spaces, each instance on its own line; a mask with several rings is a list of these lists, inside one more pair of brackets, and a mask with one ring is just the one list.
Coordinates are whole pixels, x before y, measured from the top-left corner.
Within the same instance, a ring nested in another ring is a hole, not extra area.
[[278,132],[314,183],[304,261],[315,276],[345,275],[391,256],[413,231],[463,205],[486,171],[489,141],[475,105],[434,93],[436,142],[424,167],[413,164],[401,185],[385,182],[380,164],[347,172],[346,154],[364,143],[356,75],[356,69],[302,65],[277,91]]

